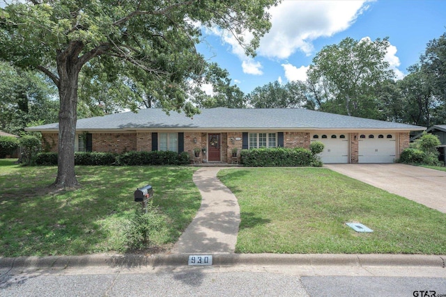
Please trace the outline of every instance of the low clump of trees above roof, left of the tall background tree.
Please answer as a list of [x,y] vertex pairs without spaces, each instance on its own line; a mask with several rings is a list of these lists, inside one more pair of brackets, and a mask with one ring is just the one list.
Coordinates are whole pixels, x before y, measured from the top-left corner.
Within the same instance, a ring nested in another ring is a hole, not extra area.
[[301,82],[291,81],[282,86],[279,81],[255,88],[247,102],[256,109],[286,109],[300,107],[306,102]]

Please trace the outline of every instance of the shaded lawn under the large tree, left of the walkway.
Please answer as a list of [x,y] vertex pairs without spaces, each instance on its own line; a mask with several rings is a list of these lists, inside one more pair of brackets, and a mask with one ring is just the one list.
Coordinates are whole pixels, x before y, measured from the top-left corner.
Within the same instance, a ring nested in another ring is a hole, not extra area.
[[201,197],[196,168],[77,166],[82,188],[49,188],[52,166],[0,162],[0,256],[81,255],[126,252],[124,226],[141,209],[133,193],[153,186],[153,201],[167,216],[168,238],[144,252],[166,250],[192,221]]

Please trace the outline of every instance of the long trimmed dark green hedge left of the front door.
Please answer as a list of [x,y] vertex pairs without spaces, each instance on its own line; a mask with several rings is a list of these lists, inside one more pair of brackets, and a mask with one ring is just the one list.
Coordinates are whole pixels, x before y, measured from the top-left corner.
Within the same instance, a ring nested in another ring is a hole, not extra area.
[[[187,152],[75,152],[75,165],[186,165],[190,163]],[[42,152],[36,159],[37,165],[57,165],[57,153]]]

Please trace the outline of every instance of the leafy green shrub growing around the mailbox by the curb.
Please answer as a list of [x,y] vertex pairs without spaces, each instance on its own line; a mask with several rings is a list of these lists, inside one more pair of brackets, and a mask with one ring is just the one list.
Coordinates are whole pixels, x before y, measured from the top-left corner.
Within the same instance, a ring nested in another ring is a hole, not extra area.
[[153,205],[153,200],[149,200],[147,213],[137,209],[125,226],[125,234],[130,250],[144,250],[150,245],[167,243],[170,239],[167,216]]

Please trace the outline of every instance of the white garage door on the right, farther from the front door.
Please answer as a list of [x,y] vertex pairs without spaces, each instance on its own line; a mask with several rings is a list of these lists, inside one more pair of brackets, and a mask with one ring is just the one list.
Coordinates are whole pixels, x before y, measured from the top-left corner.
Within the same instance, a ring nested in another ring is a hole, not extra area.
[[358,150],[359,163],[393,163],[397,139],[394,134],[362,134]]

